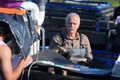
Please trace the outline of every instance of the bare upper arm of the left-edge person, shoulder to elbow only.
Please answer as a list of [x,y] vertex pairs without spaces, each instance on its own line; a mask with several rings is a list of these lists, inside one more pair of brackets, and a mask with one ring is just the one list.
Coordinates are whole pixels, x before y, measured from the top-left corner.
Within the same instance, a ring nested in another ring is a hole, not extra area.
[[11,51],[9,47],[3,45],[0,47],[1,70],[5,80],[12,80]]

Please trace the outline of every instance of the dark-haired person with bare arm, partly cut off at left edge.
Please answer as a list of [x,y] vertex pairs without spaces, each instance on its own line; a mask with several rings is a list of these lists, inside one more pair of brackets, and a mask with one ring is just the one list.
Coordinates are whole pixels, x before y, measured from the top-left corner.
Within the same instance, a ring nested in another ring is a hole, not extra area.
[[[17,80],[21,75],[25,65],[32,61],[31,56],[26,59],[21,58],[19,64],[14,69],[12,68],[12,51],[5,43],[6,38],[10,33],[10,29],[5,22],[0,22],[0,71],[3,80]],[[1,80],[1,79],[0,79]]]

